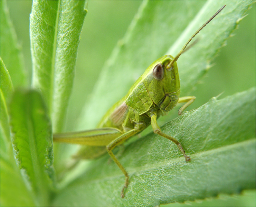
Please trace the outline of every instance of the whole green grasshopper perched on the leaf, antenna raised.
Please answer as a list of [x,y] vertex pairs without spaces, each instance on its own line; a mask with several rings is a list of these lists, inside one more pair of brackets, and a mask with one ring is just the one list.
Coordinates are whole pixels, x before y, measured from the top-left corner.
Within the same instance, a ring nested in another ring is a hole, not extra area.
[[153,62],[132,85],[126,96],[106,112],[97,129],[53,135],[54,141],[57,142],[87,145],[86,149],[82,148],[76,155],[78,159],[95,158],[107,151],[125,175],[125,184],[121,191],[122,198],[129,184],[129,175],[112,150],[128,138],[143,131],[150,124],[154,133],[174,142],[185,160],[190,161],[190,157],[185,153],[179,141],[161,131],[157,118],[166,115],[178,103],[185,103],[178,111],[181,115],[195,100],[195,96],[180,97],[180,78],[176,61],[193,37],[225,6],[221,7],[191,36],[176,57],[164,55]]

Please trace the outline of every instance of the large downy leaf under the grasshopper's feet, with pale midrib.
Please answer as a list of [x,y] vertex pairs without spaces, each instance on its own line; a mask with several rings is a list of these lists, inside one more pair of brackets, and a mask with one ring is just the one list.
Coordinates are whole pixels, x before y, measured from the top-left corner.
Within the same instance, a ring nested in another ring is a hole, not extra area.
[[124,175],[106,155],[61,190],[53,205],[157,206],[255,188],[255,89],[212,98],[162,130],[181,142],[191,162],[175,144],[150,133],[119,158],[130,174],[124,199]]

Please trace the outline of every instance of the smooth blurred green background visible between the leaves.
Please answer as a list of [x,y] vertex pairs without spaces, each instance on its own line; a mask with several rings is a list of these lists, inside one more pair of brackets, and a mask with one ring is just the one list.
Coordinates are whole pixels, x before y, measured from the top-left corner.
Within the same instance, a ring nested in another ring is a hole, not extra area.
[[[141,1],[88,2],[88,13],[78,50],[74,87],[67,112],[66,131],[74,128],[104,62],[117,41],[124,36],[140,4]],[[22,45],[25,67],[30,79],[29,14],[32,1],[7,1],[7,5],[18,41]],[[229,38],[227,45],[221,49],[213,63],[214,66],[195,87],[193,95],[197,99],[193,108],[201,106],[222,92],[224,94],[220,98],[255,86],[255,4],[247,14],[240,22],[239,29],[235,30],[235,35]],[[246,191],[242,196],[222,196],[221,199],[205,200],[192,205],[255,206],[255,190]]]

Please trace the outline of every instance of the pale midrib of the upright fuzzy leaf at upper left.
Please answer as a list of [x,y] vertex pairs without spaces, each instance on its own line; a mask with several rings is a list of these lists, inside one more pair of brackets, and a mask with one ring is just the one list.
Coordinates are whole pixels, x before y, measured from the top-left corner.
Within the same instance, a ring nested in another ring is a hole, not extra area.
[[50,86],[50,101],[49,101],[49,109],[50,114],[53,110],[53,96],[54,96],[54,77],[55,77],[55,63],[56,63],[56,48],[57,48],[57,37],[58,37],[58,22],[59,22],[59,8],[60,8],[60,1],[58,1],[58,9],[57,9],[57,15],[56,15],[56,21],[55,21],[55,30],[54,30],[54,41],[53,41],[53,51],[52,51],[52,58],[51,58],[51,86]]

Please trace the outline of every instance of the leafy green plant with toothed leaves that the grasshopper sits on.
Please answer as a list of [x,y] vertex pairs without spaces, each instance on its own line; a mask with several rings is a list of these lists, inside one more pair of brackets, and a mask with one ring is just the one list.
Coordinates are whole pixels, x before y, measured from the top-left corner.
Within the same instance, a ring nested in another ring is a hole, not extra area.
[[[163,126],[164,132],[171,133],[181,141],[185,150],[191,155],[191,163],[184,163],[175,146],[152,132],[128,142],[120,156],[120,161],[131,173],[131,183],[124,199],[119,197],[119,186],[122,186],[123,175],[113,162],[107,163],[107,155],[95,161],[81,162],[74,170],[67,171],[65,164],[70,160],[70,154],[75,151],[75,147],[65,144],[55,145],[55,173],[52,165],[51,124],[54,132],[63,130],[67,100],[74,75],[77,37],[80,35],[80,29],[77,28],[82,28],[85,15],[84,2],[68,2],[69,4],[38,2],[33,5],[30,30],[30,36],[33,37],[32,48],[35,44],[40,45],[40,38],[35,37],[42,35],[50,45],[40,51],[32,50],[34,73],[32,86],[39,89],[40,93],[34,89],[17,89],[18,86],[28,85],[28,81],[25,78],[18,81],[14,79],[15,75],[12,75],[23,74],[23,66],[8,15],[3,12],[6,11],[3,3],[1,1],[1,57],[6,68],[1,61],[2,205],[153,206],[203,199],[221,193],[240,193],[243,189],[255,188],[254,89],[221,100],[212,98],[207,104],[174,120],[172,117],[176,116],[175,110],[175,115],[172,113],[169,117],[163,117],[162,123],[167,122]],[[194,95],[191,89],[206,74],[213,58],[252,2],[143,2],[124,39],[118,42],[110,59],[104,65],[100,79],[96,82],[94,91],[85,105],[85,113],[81,113],[77,122],[79,126],[75,126],[70,121],[67,122],[68,125],[73,126],[70,128],[81,130],[95,127],[104,112],[127,92],[150,63],[166,53],[175,55],[180,45],[184,44],[198,26],[209,18],[209,13],[216,12],[216,9],[224,4],[227,6],[220,18],[207,25],[200,33],[199,42],[179,59],[182,96]],[[44,22],[35,21],[39,17],[37,15],[43,14],[40,12],[42,11],[40,7],[45,7],[44,11],[48,12],[46,20],[56,23],[58,19],[60,22],[57,24],[60,30],[55,30],[59,32],[59,36],[51,35],[51,28],[47,28],[48,25],[53,26],[53,24],[47,22],[46,25],[40,25]],[[76,21],[75,31],[69,36],[74,39],[68,42],[69,39],[63,35],[66,34],[65,29],[71,30],[65,25],[71,25],[70,23],[74,25],[74,19],[65,22],[68,17],[64,18],[63,15],[67,14],[70,17],[71,13],[65,12],[70,8],[77,9],[74,12],[78,15],[79,21]],[[2,17],[2,15],[6,16]],[[197,18],[194,19],[196,16]],[[7,17],[6,24],[2,22],[4,17]],[[62,23],[61,18],[64,18]],[[187,29],[189,22],[193,26]],[[4,37],[11,38],[6,40]],[[58,37],[63,37],[60,39],[64,40],[62,44],[56,41],[59,40]],[[176,41],[177,39],[179,41]],[[7,42],[10,43],[3,46],[3,43]],[[43,48],[46,45],[44,43],[41,47],[35,48]],[[75,49],[71,50],[72,47]],[[48,56],[51,58],[44,58]],[[52,62],[52,57],[56,62]],[[70,60],[73,62],[70,63]],[[19,67],[12,66],[8,62]],[[255,73],[255,65],[247,65],[241,60],[237,62],[242,66],[245,65],[241,71],[249,70],[251,74]],[[67,66],[63,74],[63,68]],[[96,64],[94,62],[94,66],[101,68],[97,62]],[[94,68],[87,69],[86,72],[88,71],[89,74],[91,70],[94,71]],[[222,73],[225,74],[225,71]],[[46,74],[51,78],[44,77]],[[110,79],[112,84],[107,84]],[[249,87],[255,85],[254,81],[255,79]],[[209,87],[214,88],[218,85],[218,81],[215,80]],[[82,94],[83,90],[80,90],[79,94]],[[212,91],[208,94],[210,97],[218,95],[212,94]],[[79,98],[75,101],[78,100]],[[102,105],[98,107],[99,101],[104,101],[103,107]],[[75,107],[75,104],[72,106]],[[195,108],[195,105],[190,108]],[[170,120],[172,121],[169,122]],[[16,162],[20,170],[13,159],[10,126]]]

